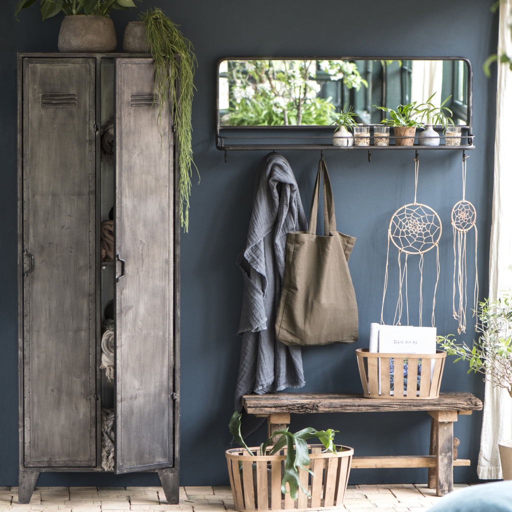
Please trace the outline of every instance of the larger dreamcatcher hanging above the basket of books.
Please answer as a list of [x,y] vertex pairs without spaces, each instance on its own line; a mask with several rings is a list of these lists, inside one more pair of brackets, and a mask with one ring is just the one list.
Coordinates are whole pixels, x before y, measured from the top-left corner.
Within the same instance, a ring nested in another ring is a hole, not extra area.
[[[382,309],[380,323],[383,324],[384,301],[388,287],[388,267],[390,243],[398,249],[398,300],[393,320],[394,325],[400,325],[403,306],[406,307],[407,325],[409,325],[409,301],[407,289],[407,265],[410,255],[418,255],[419,262],[419,326],[422,325],[423,309],[423,255],[431,249],[436,249],[436,283],[434,298],[432,301],[432,327],[435,325],[434,309],[436,305],[436,291],[439,282],[439,239],[441,238],[442,225],[437,213],[430,207],[416,202],[418,188],[419,158],[414,159],[414,203],[406,204],[395,211],[391,217],[388,228],[388,256],[386,260],[386,276],[384,280],[384,293],[382,296]],[[402,266],[402,254],[403,266]]]

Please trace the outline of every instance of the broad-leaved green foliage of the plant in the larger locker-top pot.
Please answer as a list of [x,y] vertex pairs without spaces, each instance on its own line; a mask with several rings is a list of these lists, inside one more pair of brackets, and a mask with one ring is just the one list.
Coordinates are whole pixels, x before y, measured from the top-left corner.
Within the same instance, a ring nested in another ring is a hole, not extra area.
[[[17,0],[14,15],[17,17],[22,9],[27,9],[36,1]],[[39,2],[39,11],[43,20],[59,12],[63,12],[66,16],[77,14],[107,16],[112,9],[131,9],[132,7],[135,7],[133,0],[40,0]]]

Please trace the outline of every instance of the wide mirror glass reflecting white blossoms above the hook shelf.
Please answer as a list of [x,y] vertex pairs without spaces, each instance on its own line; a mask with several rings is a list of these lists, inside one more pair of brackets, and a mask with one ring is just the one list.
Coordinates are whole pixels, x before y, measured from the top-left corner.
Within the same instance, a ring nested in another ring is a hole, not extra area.
[[[463,58],[229,58],[218,66],[217,125],[326,126],[340,111],[378,124],[385,112],[429,101],[471,125],[471,65]],[[430,98],[430,99],[429,99]]]

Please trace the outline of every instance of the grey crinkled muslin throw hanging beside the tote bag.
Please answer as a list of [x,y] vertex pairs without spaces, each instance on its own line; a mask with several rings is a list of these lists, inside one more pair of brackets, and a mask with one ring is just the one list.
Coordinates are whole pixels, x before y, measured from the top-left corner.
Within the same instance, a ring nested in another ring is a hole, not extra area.
[[242,335],[235,409],[244,394],[281,391],[304,386],[300,347],[275,339],[286,235],[307,229],[297,182],[288,161],[278,153],[263,158],[257,182],[247,245],[237,264],[244,277],[238,334]]

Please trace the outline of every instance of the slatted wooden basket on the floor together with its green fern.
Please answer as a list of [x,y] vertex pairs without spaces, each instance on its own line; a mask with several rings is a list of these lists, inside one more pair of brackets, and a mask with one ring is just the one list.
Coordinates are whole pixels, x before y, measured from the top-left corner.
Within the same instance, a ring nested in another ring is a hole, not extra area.
[[[240,419],[240,413],[234,412],[229,430],[242,449],[226,451],[235,509],[245,512],[282,510],[296,505],[299,509],[342,506],[354,451],[334,444],[337,431],[306,428],[292,434],[285,429],[273,432],[259,448],[249,448],[240,433]],[[308,445],[311,438],[322,444]],[[329,479],[328,485],[324,478]],[[329,491],[322,494],[324,483]],[[302,494],[297,493],[299,488]]]

